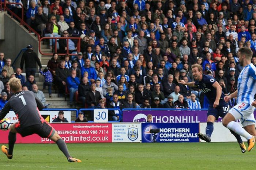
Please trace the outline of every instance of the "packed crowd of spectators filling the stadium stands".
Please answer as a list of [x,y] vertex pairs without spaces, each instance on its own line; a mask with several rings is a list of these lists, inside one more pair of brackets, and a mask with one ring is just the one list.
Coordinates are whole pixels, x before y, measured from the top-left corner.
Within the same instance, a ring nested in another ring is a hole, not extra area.
[[[68,41],[69,52],[77,55],[54,53],[40,70],[50,96],[52,84],[59,97],[68,88],[70,106],[78,91],[82,105],[89,108],[208,108],[202,91],[178,83],[193,81],[192,64],[202,65],[203,73],[213,76],[225,94],[237,90],[240,47],[252,49],[256,65],[256,0],[9,2],[23,4],[25,14],[20,6],[9,7],[25,15],[41,36],[82,38],[80,52],[75,39],[60,39],[58,53],[67,53]],[[50,40],[49,48],[54,44]],[[0,60],[5,85],[8,69],[1,55]],[[28,79],[31,90],[33,79]],[[236,99],[229,105],[236,105]]]

